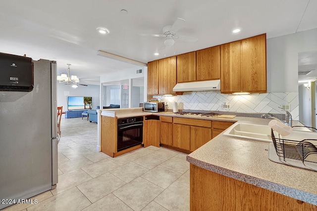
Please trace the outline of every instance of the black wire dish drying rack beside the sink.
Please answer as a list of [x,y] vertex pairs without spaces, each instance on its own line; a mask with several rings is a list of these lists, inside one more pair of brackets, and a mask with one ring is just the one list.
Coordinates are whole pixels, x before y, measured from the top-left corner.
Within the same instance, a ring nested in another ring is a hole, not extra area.
[[[313,129],[317,131],[316,128]],[[317,164],[316,159],[314,160],[309,158],[309,155],[312,154],[316,154],[317,156],[317,146],[310,142],[317,142],[317,139],[303,139],[301,141],[289,140],[285,138],[280,138],[279,133],[278,137],[275,137],[273,129],[271,129],[271,137],[277,156],[283,158],[284,162],[286,162],[286,159],[294,159],[302,161],[304,166],[305,162]]]

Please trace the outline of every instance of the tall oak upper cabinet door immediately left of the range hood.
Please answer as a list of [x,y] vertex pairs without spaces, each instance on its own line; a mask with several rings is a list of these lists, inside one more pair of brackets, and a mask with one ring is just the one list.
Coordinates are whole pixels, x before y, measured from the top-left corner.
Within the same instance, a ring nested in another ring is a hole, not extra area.
[[[175,94],[176,56],[159,60],[159,94]],[[148,92],[149,94],[149,92]]]

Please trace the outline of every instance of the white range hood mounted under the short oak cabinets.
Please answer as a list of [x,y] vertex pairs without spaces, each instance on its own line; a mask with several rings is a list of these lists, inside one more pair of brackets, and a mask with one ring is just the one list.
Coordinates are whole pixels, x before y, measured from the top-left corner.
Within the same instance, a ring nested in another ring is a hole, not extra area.
[[173,91],[216,91],[220,90],[220,80],[187,82],[176,84]]

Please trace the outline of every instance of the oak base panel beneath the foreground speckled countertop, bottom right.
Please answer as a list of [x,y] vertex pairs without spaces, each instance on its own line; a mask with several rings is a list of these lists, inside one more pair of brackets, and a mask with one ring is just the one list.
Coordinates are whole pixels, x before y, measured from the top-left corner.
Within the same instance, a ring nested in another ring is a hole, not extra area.
[[190,164],[191,211],[316,211],[317,206]]

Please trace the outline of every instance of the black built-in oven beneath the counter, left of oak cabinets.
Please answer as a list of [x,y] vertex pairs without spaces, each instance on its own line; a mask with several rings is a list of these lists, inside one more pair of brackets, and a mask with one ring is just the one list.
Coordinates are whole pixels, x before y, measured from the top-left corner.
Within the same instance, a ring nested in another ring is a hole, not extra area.
[[118,119],[117,151],[142,144],[143,117]]

